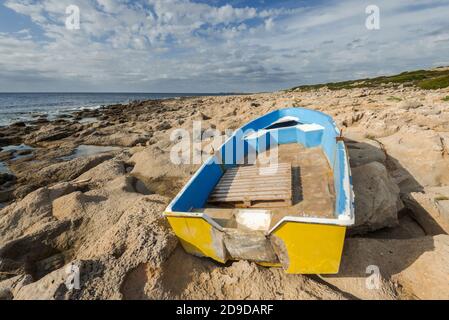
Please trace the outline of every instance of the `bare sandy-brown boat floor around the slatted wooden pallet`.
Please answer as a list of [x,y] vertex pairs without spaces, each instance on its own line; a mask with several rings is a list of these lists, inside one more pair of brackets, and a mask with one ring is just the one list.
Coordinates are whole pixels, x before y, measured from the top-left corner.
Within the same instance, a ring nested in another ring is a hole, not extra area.
[[[305,148],[299,144],[280,145],[278,157],[280,164],[289,164],[291,168],[290,179],[285,177],[280,180],[283,180],[283,186],[285,181],[291,181],[292,203],[290,206],[285,206],[285,203],[277,207],[261,206],[272,212],[271,225],[287,215],[333,218],[333,173],[322,149]],[[232,203],[210,203],[206,208],[195,211],[207,213],[224,227],[232,227],[235,223],[233,217],[238,210],[238,206],[232,206]]]

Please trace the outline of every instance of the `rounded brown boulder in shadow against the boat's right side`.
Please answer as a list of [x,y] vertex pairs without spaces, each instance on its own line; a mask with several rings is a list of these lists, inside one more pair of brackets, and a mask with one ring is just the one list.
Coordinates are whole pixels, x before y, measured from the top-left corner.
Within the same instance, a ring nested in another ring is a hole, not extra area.
[[[375,140],[363,142],[345,139],[348,148],[355,194],[356,224],[348,230],[348,235],[360,235],[387,228],[398,233],[402,228],[401,217],[412,217],[415,228],[399,232],[401,238],[422,236],[422,229],[428,235],[445,233],[441,228],[429,230],[421,220],[434,220],[426,210],[417,210],[418,203],[407,200],[411,192],[421,193],[424,187],[392,158]],[[404,205],[405,204],[405,205]],[[400,213],[398,217],[398,213]],[[421,216],[421,217],[420,217]],[[425,217],[423,217],[425,216]],[[437,221],[433,221],[438,225]],[[383,230],[385,231],[385,230]],[[388,232],[383,232],[388,238]],[[394,237],[393,237],[394,238]]]

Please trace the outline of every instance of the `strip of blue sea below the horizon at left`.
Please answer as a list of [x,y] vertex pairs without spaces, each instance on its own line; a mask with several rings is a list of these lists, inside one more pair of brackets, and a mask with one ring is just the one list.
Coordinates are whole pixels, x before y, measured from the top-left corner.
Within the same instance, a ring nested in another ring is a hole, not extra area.
[[0,93],[0,126],[40,116],[49,120],[80,109],[128,103],[135,100],[191,96],[218,96],[225,93]]

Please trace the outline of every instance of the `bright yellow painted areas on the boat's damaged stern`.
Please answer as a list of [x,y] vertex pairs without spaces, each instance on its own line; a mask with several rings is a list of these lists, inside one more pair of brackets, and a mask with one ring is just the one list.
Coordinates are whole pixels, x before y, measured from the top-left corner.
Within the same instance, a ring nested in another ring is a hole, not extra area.
[[[223,233],[201,217],[171,216],[167,219],[184,250],[220,263],[228,260]],[[346,227],[285,222],[269,237],[278,244],[280,264],[258,262],[262,266],[283,266],[290,274],[336,274],[339,271]]]

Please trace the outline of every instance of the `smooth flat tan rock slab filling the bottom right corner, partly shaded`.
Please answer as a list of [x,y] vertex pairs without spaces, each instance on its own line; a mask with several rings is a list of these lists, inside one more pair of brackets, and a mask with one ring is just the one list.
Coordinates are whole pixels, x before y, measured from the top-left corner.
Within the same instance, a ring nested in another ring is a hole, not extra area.
[[[379,277],[374,272],[379,271]],[[347,239],[340,273],[323,276],[361,299],[448,299],[449,236]]]

